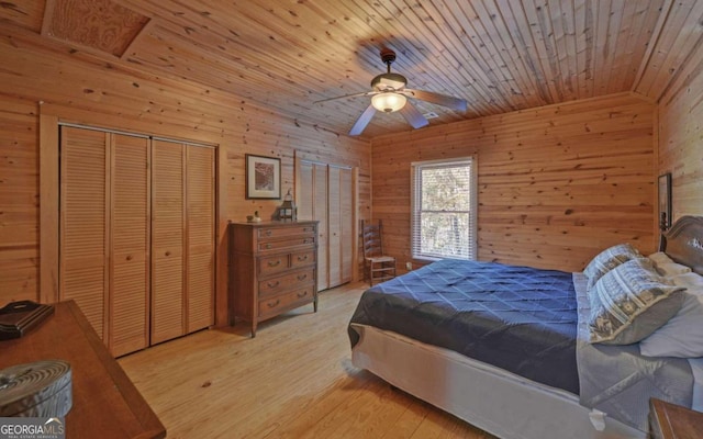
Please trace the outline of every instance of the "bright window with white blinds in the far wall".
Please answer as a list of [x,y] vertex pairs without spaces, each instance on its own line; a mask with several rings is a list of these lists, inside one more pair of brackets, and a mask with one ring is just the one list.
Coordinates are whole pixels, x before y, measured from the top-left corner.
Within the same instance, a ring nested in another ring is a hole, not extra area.
[[476,259],[476,171],[470,157],[412,164],[415,259]]

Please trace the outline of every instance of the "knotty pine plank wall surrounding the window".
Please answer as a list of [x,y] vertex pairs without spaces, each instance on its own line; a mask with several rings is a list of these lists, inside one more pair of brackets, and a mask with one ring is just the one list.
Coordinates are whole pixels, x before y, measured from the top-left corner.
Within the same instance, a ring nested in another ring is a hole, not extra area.
[[617,243],[654,251],[654,112],[622,93],[373,138],[386,251],[411,261],[411,162],[470,155],[480,260],[578,271]]

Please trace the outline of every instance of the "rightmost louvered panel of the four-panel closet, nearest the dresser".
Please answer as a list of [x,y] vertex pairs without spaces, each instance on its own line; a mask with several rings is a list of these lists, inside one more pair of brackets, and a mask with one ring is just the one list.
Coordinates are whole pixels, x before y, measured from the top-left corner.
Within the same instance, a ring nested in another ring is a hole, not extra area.
[[214,149],[187,146],[187,329],[214,324]]

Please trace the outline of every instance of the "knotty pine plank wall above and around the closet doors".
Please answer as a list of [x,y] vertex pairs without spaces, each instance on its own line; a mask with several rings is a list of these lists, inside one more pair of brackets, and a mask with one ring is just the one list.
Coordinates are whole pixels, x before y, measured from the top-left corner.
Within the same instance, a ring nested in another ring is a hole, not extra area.
[[[42,44],[46,45],[46,41]],[[99,114],[110,127],[176,138],[208,138],[226,150],[226,212],[233,221],[280,201],[245,199],[245,154],[279,157],[282,191],[293,187],[295,150],[359,166],[359,218],[370,212],[370,144],[282,117],[223,93],[137,68],[105,64],[38,36],[0,26],[0,306],[38,300],[38,101]],[[94,119],[94,117],[93,117]],[[223,157],[223,155],[220,155]],[[221,230],[222,232],[222,230]]]

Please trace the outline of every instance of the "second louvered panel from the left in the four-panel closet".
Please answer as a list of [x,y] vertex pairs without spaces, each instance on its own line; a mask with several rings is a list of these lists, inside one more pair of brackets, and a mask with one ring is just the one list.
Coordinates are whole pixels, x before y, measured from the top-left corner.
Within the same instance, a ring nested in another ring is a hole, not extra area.
[[149,140],[112,134],[110,351],[148,346]]

